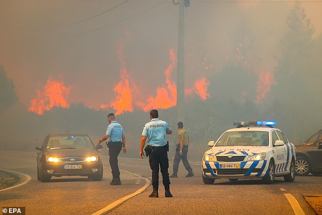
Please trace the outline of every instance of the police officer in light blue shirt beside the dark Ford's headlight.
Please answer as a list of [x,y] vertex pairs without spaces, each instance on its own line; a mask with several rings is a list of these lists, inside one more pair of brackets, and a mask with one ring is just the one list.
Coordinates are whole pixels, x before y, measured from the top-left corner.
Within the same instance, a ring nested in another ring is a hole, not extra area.
[[110,125],[106,129],[106,135],[99,140],[98,144],[109,139],[109,161],[113,175],[110,185],[122,185],[120,180],[120,170],[118,169],[117,156],[119,155],[121,149],[123,150],[124,154],[126,153],[124,129],[115,120],[115,115],[113,113],[108,114],[107,119],[110,122]]

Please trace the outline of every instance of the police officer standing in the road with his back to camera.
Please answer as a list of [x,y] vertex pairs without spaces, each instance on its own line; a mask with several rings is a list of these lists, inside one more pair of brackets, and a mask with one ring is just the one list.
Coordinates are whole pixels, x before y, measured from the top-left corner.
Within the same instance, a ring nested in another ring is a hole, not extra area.
[[153,192],[149,197],[158,196],[159,186],[159,167],[163,177],[163,185],[165,187],[165,196],[172,197],[170,193],[170,179],[169,179],[169,160],[168,160],[168,144],[166,134],[172,134],[171,128],[166,121],[158,119],[158,111],[153,109],[150,111],[151,121],[145,124],[142,132],[140,157],[143,159],[143,148],[148,139],[148,146],[151,150],[149,152],[149,163],[152,170],[152,186]]

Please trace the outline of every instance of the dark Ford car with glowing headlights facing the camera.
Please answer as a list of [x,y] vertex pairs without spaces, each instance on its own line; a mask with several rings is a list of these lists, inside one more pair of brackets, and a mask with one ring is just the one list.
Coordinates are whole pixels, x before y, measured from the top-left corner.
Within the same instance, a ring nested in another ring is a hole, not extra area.
[[37,178],[47,182],[52,176],[88,176],[102,180],[103,164],[99,148],[86,133],[52,133],[37,146]]

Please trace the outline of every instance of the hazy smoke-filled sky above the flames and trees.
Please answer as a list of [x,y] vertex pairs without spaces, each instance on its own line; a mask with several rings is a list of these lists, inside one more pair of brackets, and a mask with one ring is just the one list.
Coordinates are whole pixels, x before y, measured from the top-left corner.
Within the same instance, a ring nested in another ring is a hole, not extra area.
[[[227,62],[273,72],[294,2],[269,2],[190,0],[185,16],[187,89],[195,80],[219,73]],[[314,36],[320,35],[322,1],[303,1],[302,7]],[[144,101],[167,85],[169,52],[177,50],[178,6],[171,0],[2,0],[0,35],[0,65],[26,106],[49,78],[70,87],[70,104],[109,104],[117,96],[113,89],[122,65]],[[171,77],[176,82],[175,70]]]

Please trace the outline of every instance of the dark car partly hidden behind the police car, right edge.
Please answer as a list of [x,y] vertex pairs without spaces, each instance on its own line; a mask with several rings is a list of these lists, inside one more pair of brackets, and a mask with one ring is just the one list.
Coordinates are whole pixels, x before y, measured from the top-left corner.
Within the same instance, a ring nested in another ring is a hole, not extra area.
[[322,174],[322,130],[313,134],[306,143],[297,145],[295,171],[297,175]]

